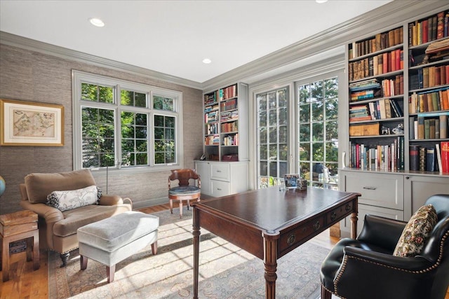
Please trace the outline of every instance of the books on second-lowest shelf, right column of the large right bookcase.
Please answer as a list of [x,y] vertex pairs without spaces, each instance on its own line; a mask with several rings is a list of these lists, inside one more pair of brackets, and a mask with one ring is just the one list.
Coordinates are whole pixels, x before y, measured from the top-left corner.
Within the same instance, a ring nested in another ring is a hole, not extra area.
[[409,137],[410,139],[446,139],[448,138],[448,114],[436,118],[425,118],[424,116],[410,116]]

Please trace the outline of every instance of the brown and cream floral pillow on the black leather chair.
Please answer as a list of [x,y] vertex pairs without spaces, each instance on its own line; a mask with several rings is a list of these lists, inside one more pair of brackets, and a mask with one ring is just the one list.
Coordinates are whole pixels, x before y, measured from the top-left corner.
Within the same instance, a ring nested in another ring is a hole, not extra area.
[[394,256],[417,256],[437,222],[434,206],[427,204],[410,218],[394,249]]

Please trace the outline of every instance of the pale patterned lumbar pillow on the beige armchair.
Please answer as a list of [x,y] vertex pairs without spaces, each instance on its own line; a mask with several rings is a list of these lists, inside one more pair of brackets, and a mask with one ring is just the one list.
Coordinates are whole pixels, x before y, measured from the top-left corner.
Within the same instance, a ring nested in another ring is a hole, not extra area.
[[102,191],[97,186],[88,186],[77,190],[53,191],[47,196],[47,205],[60,211],[67,211],[88,204],[98,204]]

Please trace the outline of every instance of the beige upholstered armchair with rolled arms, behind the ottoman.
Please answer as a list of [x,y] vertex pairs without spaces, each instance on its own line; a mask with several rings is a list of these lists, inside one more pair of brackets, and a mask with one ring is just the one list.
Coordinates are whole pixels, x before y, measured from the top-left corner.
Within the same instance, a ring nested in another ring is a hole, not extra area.
[[[20,205],[39,216],[39,246],[60,253],[61,267],[66,265],[69,252],[78,248],[76,237],[78,228],[132,210],[132,202],[129,199],[122,200],[117,195],[102,195],[101,192],[98,194],[97,188],[92,186],[96,186],[96,183],[88,169],[53,174],[28,174],[25,176],[25,183],[20,184],[22,195]],[[76,197],[82,192],[79,189],[87,190],[89,187],[95,189],[93,196],[99,197],[95,198],[96,202],[87,202],[88,196]],[[61,195],[60,192],[54,191],[69,192]],[[51,202],[47,200],[51,194],[58,195],[53,197],[54,202],[57,202],[56,204],[53,202],[53,207],[48,205]],[[60,199],[60,204],[56,198]],[[70,204],[67,204],[67,199]]]

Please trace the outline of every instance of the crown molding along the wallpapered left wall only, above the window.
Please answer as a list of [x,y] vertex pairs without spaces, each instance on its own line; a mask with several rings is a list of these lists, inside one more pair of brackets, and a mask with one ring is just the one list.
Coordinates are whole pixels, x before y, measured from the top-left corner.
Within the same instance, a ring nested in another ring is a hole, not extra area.
[[109,60],[103,57],[82,53],[76,50],[62,48],[60,46],[51,45],[50,43],[43,43],[34,39],[27,39],[26,37],[10,34],[8,32],[0,31],[0,43],[8,46],[36,51],[46,55],[52,55],[65,60],[93,64],[97,67],[107,67],[108,69],[125,71],[133,75],[145,76],[156,81],[164,81],[167,83],[173,83],[177,85],[187,86],[189,88],[202,90],[201,83],[196,81],[171,76],[168,74],[160,73],[159,71],[152,71],[151,69],[136,67],[131,64]]

